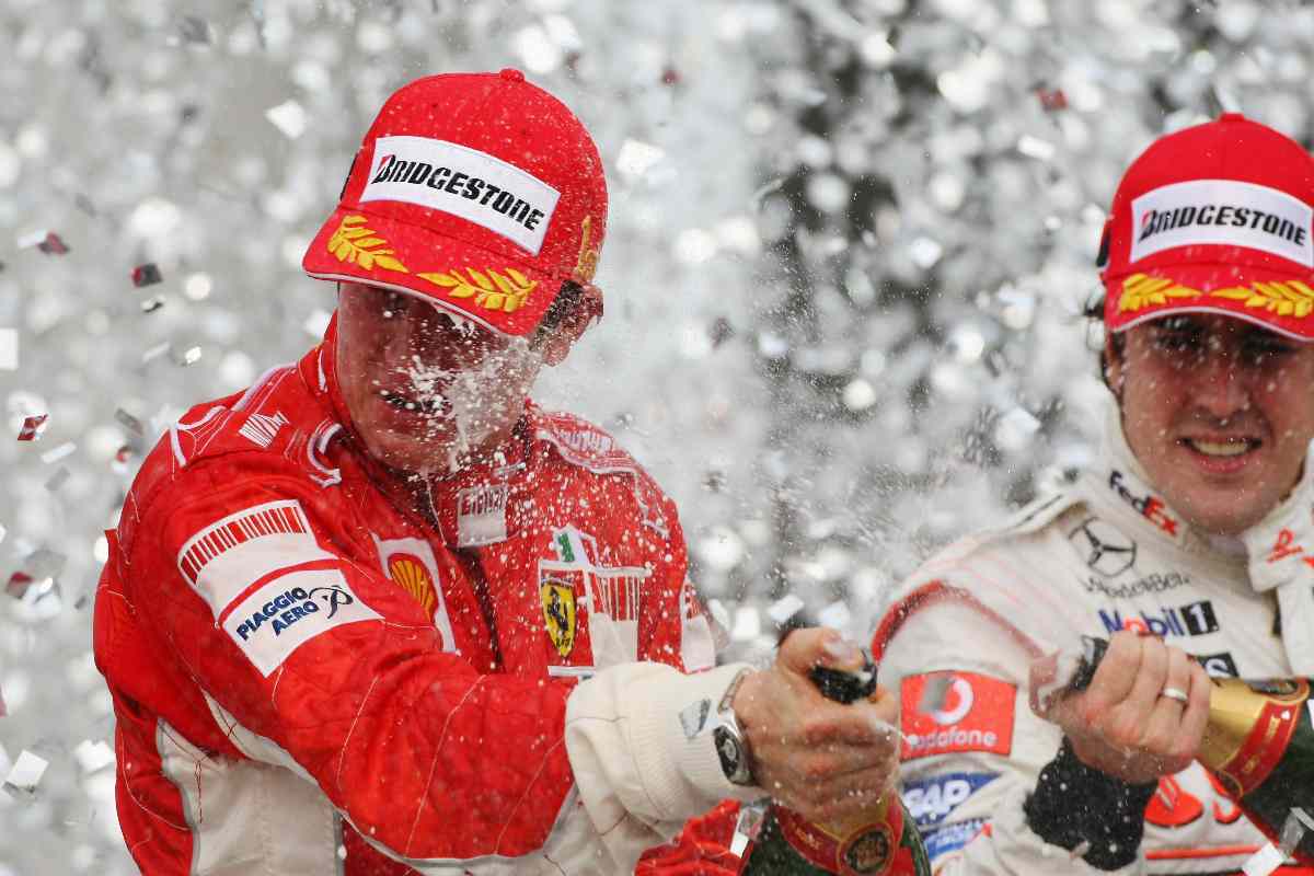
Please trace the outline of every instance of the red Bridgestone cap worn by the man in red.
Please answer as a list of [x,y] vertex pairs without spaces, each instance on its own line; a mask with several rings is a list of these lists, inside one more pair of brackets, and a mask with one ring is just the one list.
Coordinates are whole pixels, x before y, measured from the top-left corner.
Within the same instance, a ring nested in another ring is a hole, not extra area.
[[388,99],[301,264],[527,335],[564,281],[590,284],[606,226],[602,159],[565,104],[518,70],[444,74]]

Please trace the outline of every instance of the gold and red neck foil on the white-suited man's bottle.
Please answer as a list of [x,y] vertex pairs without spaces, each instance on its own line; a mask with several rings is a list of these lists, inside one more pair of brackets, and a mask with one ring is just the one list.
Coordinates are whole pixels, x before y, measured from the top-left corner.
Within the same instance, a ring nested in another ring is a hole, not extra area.
[[1214,679],[1200,759],[1229,793],[1243,797],[1273,771],[1310,696],[1305,679]]

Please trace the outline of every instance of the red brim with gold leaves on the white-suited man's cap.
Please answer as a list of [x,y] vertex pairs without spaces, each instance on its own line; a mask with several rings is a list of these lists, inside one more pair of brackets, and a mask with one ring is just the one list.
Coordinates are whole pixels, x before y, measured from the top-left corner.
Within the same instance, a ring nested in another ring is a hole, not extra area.
[[1234,317],[1314,340],[1314,276],[1243,265],[1164,265],[1105,282],[1105,327],[1121,332],[1172,314]]

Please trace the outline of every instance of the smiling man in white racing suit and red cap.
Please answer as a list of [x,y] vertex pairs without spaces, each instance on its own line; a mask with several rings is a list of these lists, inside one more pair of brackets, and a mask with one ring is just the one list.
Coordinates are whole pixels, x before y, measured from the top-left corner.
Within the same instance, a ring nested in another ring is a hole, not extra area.
[[[1193,756],[1208,675],[1314,675],[1311,205],[1309,154],[1236,114],[1123,177],[1099,464],[930,559],[872,644],[937,872],[1235,873],[1264,844]],[[1033,705],[1081,636],[1110,640],[1091,687]]]

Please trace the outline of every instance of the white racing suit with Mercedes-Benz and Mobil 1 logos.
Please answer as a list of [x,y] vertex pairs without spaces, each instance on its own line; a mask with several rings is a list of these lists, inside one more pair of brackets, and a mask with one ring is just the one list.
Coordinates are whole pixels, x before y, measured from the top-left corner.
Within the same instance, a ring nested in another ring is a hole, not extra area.
[[[1046,844],[1024,816],[1062,738],[1030,709],[1034,655],[1077,647],[1081,634],[1148,629],[1210,674],[1314,675],[1310,468],[1240,538],[1210,538],[1148,486],[1110,418],[1093,470],[951,545],[899,588],[872,646],[884,682],[901,688],[904,800],[937,872],[1101,872]],[[1005,624],[943,598],[946,586]],[[1235,873],[1267,842],[1198,763],[1160,780],[1144,821],[1141,854],[1117,872]]]

